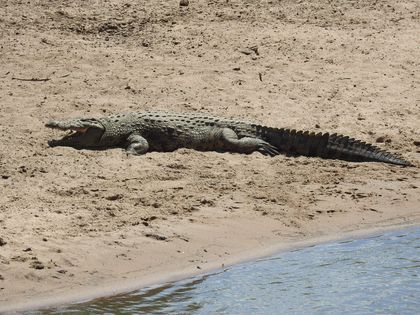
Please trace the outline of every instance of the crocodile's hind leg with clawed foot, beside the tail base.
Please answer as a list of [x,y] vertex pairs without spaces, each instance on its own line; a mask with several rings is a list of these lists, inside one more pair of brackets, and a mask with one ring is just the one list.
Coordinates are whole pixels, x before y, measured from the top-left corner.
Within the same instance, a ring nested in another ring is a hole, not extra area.
[[235,131],[223,128],[220,140],[227,151],[238,153],[252,153],[258,151],[264,155],[275,156],[280,154],[277,148],[264,140],[251,137],[238,138]]

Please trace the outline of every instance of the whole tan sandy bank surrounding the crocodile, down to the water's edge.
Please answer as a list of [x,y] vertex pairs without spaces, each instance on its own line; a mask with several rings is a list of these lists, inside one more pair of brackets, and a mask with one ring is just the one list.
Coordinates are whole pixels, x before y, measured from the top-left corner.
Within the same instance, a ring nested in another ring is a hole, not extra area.
[[[0,1],[0,310],[420,223],[419,25],[414,0]],[[416,167],[47,146],[49,119],[145,109],[339,132]]]

